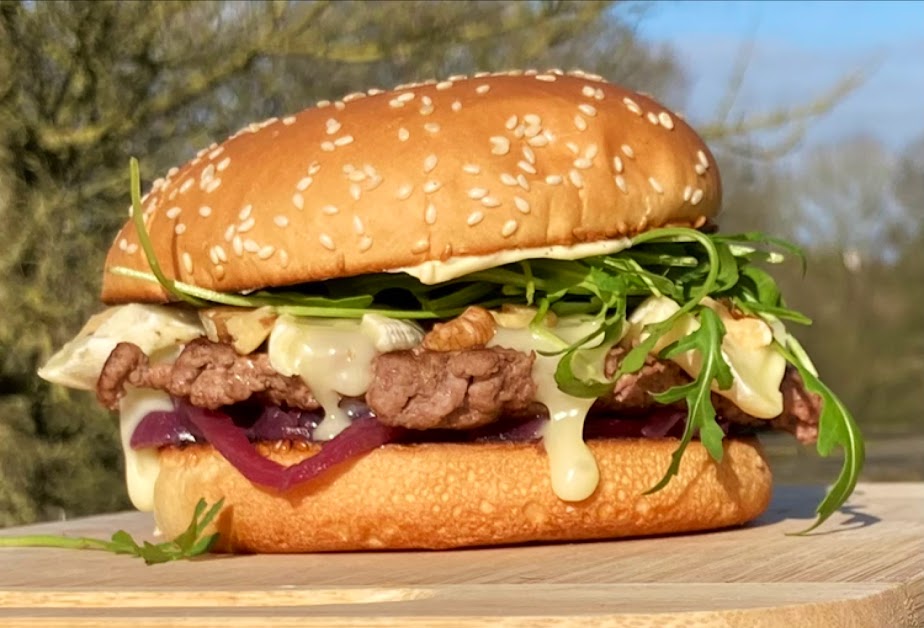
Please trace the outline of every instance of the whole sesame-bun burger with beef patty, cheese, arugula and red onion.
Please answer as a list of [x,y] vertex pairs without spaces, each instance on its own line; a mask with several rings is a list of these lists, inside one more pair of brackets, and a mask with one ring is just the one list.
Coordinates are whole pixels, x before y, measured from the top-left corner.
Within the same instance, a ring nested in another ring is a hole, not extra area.
[[604,539],[768,505],[755,435],[850,414],[766,264],[718,234],[682,117],[582,72],[454,76],[242,129],[140,196],[94,316],[41,369],[118,411],[128,492],[217,549]]

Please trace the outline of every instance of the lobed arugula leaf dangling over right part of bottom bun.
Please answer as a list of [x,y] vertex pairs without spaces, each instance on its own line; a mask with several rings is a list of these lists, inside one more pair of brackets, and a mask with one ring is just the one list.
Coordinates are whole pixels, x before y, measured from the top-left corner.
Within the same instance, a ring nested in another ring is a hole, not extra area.
[[725,358],[722,357],[722,338],[725,337],[725,325],[718,314],[707,307],[697,308],[699,328],[680,340],[666,346],[658,354],[662,359],[677,357],[689,351],[699,355],[701,367],[699,375],[689,384],[674,386],[663,393],[654,395],[659,403],[671,404],[680,400],[687,403],[687,423],[680,439],[680,445],[671,454],[671,464],[661,480],[648,489],[645,494],[655,493],[667,486],[671,478],[680,471],[680,461],[695,433],[699,433],[703,447],[716,462],[722,460],[724,453],[722,440],[725,433],[715,420],[715,408],[712,405],[712,382],[719,388],[727,389],[732,385],[732,372]]

